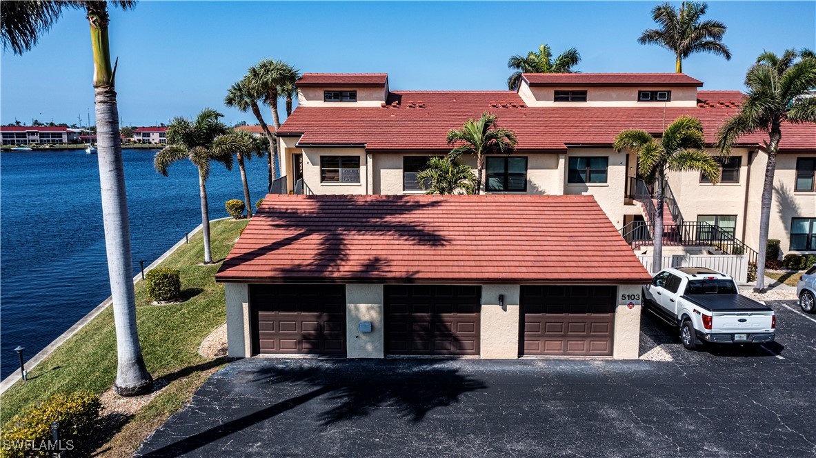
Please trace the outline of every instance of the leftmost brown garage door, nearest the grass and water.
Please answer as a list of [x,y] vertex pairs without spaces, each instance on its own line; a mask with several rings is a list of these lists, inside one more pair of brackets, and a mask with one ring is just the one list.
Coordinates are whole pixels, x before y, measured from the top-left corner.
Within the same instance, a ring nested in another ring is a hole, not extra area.
[[345,285],[251,285],[252,354],[346,354]]

